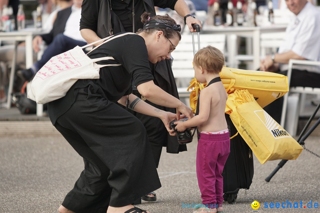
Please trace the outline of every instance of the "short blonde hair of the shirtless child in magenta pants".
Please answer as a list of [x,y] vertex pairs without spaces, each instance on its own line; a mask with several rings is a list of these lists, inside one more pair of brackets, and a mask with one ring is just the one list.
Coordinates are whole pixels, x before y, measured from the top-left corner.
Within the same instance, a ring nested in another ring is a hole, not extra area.
[[198,67],[201,66],[209,73],[219,74],[225,64],[225,60],[223,53],[219,49],[208,45],[196,53],[193,63]]

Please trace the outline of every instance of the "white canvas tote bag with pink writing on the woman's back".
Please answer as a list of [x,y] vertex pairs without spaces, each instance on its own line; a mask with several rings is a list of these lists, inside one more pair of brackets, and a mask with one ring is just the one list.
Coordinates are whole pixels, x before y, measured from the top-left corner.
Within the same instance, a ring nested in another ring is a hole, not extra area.
[[[82,49],[95,43],[104,41],[100,45],[109,42],[115,38],[134,33],[124,33],[112,35],[83,47],[76,46],[64,53],[52,57],[37,73],[31,82],[28,91],[28,98],[36,103],[44,104],[57,100],[66,95],[70,87],[78,79],[99,79],[99,71],[105,66],[120,66],[121,64],[98,65],[96,62],[101,60],[114,61],[113,57],[101,57],[91,59]],[[92,49],[97,49],[100,45]],[[89,52],[89,53],[90,53]]]

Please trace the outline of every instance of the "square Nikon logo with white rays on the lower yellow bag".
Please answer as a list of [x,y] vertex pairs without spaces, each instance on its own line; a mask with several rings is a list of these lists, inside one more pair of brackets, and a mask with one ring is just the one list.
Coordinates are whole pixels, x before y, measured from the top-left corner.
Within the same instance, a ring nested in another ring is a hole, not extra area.
[[287,133],[281,126],[273,119],[265,110],[256,110],[254,113],[262,121],[264,126],[267,127],[270,134],[275,138],[291,138],[291,135]]

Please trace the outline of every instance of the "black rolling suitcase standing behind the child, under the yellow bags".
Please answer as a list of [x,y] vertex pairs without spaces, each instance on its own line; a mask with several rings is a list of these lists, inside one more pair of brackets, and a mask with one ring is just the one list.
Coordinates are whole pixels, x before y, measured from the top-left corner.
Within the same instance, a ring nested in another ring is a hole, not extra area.
[[[237,133],[228,114],[225,114],[230,137]],[[238,134],[230,140],[230,154],[222,171],[223,199],[235,203],[239,189],[249,189],[253,178],[252,150]]]

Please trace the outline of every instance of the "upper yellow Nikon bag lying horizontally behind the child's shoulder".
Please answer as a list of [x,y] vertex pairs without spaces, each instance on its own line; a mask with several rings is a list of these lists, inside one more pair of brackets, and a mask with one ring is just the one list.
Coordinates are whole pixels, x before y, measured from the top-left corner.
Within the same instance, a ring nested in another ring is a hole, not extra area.
[[273,72],[223,67],[220,78],[228,94],[247,89],[262,108],[289,91],[287,76]]

